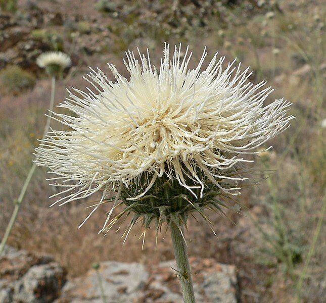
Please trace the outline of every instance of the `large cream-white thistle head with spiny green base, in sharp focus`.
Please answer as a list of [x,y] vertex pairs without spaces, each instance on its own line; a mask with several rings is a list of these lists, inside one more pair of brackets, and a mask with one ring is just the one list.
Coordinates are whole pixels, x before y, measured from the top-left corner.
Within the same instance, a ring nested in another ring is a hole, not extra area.
[[131,227],[138,218],[146,227],[156,219],[159,227],[184,222],[191,211],[205,216],[204,208],[224,206],[216,195],[239,193],[239,171],[249,162],[243,155],[289,126],[290,104],[265,104],[272,89],[248,82],[249,68],[241,71],[235,61],[223,69],[225,58],[216,54],[201,71],[206,51],[194,69],[188,48],[183,59],[180,52],[175,47],[171,58],[166,45],[157,70],[148,53],[138,51],[136,59],[129,51],[129,78],[114,65],[115,82],[90,69],[93,89],[70,92],[59,107],[74,115],[55,114],[70,130],[52,131],[36,149],[36,164],[49,167],[54,185],[64,186],[56,203],[101,190],[95,211],[113,190],[113,208],[119,197],[126,207],[111,224],[134,212]]

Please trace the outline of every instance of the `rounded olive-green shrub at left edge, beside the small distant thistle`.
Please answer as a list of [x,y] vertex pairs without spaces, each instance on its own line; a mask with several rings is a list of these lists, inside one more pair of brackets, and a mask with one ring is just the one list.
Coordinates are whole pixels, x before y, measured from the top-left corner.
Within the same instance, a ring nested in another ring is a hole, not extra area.
[[18,94],[35,85],[35,76],[18,66],[8,66],[0,71],[0,90]]

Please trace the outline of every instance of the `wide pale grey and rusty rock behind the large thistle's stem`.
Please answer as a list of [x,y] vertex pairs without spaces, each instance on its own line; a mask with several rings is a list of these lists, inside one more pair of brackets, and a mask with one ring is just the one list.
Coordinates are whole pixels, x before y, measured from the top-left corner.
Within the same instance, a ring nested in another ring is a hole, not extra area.
[[[195,296],[201,303],[237,303],[235,266],[213,259],[191,259]],[[106,300],[111,303],[182,303],[175,261],[162,262],[146,270],[138,263],[103,262],[99,273]],[[67,282],[56,303],[101,303],[99,281],[94,269]]]

